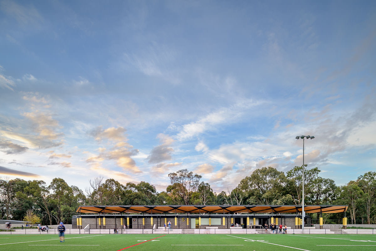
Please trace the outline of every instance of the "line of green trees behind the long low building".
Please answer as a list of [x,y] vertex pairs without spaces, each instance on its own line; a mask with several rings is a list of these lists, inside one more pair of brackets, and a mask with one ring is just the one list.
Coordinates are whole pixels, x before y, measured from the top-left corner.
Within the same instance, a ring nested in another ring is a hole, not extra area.
[[[349,224],[376,223],[376,172],[367,172],[345,186],[319,176],[320,170],[305,169],[305,205],[349,205]],[[300,205],[302,166],[287,173],[263,167],[246,176],[237,187],[217,194],[199,174],[187,169],[169,175],[171,184],[157,192],[147,182],[121,184],[102,177],[90,180],[85,192],[68,186],[61,178],[44,181],[0,180],[0,219],[22,221],[30,210],[42,224],[71,223],[79,205]],[[312,214],[317,219],[318,214]],[[324,221],[339,223],[343,215],[323,214]]]

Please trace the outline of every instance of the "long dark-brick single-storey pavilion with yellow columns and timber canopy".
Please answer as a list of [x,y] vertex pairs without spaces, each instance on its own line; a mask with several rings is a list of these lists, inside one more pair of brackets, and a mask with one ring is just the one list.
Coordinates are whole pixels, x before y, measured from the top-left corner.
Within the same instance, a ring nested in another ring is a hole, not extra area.
[[[305,213],[344,213],[343,227],[347,226],[347,205],[305,205]],[[87,205],[79,206],[73,216],[72,228],[258,228],[267,224],[286,224],[302,227],[301,205]],[[304,225],[311,226],[311,217],[305,215]]]

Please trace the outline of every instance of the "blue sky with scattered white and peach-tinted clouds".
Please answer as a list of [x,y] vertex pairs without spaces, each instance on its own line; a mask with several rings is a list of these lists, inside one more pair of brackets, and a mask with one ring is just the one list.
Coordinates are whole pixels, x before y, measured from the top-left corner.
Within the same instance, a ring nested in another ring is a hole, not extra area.
[[375,1],[0,0],[0,48],[2,179],[376,171]]

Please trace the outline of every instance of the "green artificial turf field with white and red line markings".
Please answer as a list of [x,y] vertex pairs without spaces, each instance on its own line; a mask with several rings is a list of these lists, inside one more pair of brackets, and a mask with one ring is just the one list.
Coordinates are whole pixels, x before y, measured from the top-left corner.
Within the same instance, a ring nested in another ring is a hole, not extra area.
[[368,251],[376,250],[376,235],[352,234],[56,234],[0,235],[7,251]]

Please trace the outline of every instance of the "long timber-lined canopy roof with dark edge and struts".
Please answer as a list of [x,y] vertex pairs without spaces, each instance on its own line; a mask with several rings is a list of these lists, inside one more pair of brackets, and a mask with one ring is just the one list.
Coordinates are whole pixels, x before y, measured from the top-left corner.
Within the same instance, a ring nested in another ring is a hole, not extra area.
[[[306,213],[342,213],[347,205],[305,205]],[[301,205],[117,205],[79,206],[77,213],[301,213]]]

